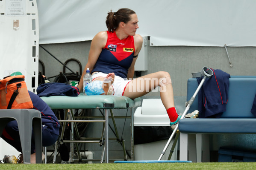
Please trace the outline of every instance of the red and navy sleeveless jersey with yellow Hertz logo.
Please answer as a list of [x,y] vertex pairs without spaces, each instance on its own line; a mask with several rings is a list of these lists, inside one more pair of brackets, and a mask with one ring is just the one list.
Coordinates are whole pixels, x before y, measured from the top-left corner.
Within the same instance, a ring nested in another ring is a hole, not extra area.
[[113,72],[119,77],[127,78],[127,72],[132,64],[135,52],[133,36],[120,40],[115,31],[107,31],[107,33],[107,43],[102,49],[91,73],[95,71],[106,74]]

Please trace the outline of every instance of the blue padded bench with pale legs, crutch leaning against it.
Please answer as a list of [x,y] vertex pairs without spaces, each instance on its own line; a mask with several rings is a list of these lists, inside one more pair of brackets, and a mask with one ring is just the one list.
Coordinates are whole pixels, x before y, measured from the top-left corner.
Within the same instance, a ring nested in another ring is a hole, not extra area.
[[[256,117],[250,112],[256,94],[255,76],[234,76],[229,79],[229,99],[227,110],[220,119],[181,119],[180,131],[180,160],[188,160],[188,144],[196,144],[196,156],[189,156],[200,162],[202,159],[202,134],[210,133],[242,133],[256,134]],[[188,79],[187,100],[191,99],[198,87],[197,79]],[[198,97],[195,98],[188,113],[198,110]],[[196,142],[188,134],[196,134]],[[190,140],[191,139],[191,140]],[[209,141],[208,141],[209,142]],[[207,142],[204,142],[204,144]],[[209,150],[209,143],[207,146]],[[195,149],[194,149],[195,150]],[[204,155],[205,156],[205,155]]]

